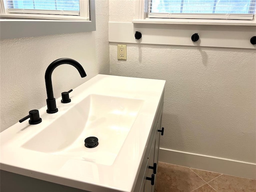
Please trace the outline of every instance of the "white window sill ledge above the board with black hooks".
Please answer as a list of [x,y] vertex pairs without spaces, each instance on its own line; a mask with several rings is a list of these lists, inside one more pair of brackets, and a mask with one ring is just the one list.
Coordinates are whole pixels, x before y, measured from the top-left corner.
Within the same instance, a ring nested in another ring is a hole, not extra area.
[[132,20],[132,23],[140,23],[140,24],[144,23],[144,24],[256,26],[256,16],[254,16],[254,20],[146,18],[146,19],[134,19],[134,20]]

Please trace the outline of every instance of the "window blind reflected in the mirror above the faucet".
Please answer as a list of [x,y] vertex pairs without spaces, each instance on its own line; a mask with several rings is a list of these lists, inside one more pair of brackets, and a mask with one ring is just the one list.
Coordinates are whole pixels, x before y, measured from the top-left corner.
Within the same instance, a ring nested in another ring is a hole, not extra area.
[[9,13],[80,15],[80,0],[7,0]]

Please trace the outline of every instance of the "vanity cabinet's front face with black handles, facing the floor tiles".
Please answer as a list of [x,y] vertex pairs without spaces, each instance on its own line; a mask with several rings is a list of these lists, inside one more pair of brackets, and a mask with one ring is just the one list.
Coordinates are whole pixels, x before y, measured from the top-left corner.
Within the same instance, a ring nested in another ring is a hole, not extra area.
[[[162,94],[162,98],[160,100],[160,106],[156,113],[157,115],[154,120],[154,126],[152,128],[152,132],[149,137],[148,146],[146,148],[146,153],[142,161],[142,166],[140,169],[140,173],[137,179],[134,192],[154,192],[154,189],[156,186],[159,142],[160,142],[160,136],[162,132],[161,120],[162,120],[162,113],[163,113],[163,98],[164,98],[164,93]],[[155,169],[155,172],[154,172],[154,169]]]

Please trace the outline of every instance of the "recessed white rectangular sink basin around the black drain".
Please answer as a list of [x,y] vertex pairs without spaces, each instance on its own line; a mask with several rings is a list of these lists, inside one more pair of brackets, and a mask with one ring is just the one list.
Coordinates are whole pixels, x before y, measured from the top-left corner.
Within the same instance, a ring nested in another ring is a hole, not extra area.
[[[142,104],[143,100],[138,99],[91,94],[22,147],[111,165]],[[84,146],[84,139],[90,136],[99,140],[95,148]]]

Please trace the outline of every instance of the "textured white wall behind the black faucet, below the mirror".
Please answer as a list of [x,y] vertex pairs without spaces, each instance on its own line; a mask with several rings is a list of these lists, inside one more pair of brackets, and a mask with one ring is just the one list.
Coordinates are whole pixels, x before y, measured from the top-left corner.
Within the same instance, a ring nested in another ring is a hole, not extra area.
[[1,131],[29,110],[46,105],[44,74],[52,61],[73,58],[87,74],[81,78],[73,66],[58,66],[52,74],[55,98],[99,73],[109,74],[109,4],[108,0],[95,3],[95,32],[1,40]]

